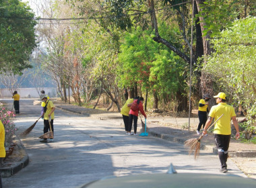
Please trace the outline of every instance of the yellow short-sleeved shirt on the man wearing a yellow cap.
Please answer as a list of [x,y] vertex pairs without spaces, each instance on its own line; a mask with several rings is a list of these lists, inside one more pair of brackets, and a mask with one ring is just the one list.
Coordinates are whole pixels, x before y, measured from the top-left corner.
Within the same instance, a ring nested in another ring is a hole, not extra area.
[[[220,118],[220,115],[222,114],[224,115]],[[214,120],[220,118],[214,126],[214,134],[231,134],[230,121],[232,117],[236,116],[236,113],[234,113],[234,107],[227,105],[226,103],[219,103],[212,107],[209,116],[214,118]]]

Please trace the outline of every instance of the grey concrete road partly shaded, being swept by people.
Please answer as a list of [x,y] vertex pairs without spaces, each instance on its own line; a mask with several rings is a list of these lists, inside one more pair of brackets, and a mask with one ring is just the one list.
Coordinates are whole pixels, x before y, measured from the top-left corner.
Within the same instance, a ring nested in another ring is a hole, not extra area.
[[[12,100],[1,99],[11,108]],[[20,100],[15,124],[23,132],[40,115],[33,99]],[[178,173],[220,174],[218,156],[201,151],[198,160],[181,144],[152,136],[127,136],[122,120],[93,120],[56,109],[54,142],[39,142],[43,122],[22,138],[30,164],[3,179],[3,187],[77,187],[108,176],[166,173],[172,162]],[[246,177],[228,161],[228,175]]]

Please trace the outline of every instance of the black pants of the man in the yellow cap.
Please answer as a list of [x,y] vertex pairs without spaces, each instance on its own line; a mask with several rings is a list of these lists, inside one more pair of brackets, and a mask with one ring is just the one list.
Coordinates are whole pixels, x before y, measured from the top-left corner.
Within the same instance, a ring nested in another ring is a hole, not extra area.
[[228,147],[231,135],[214,134],[215,144],[218,148],[218,156],[222,168],[227,167],[226,161],[228,160]]

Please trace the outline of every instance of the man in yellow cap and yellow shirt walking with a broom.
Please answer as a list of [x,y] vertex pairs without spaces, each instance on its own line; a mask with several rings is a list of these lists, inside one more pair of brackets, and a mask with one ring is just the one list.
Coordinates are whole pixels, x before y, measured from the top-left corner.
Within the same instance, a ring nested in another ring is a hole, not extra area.
[[226,94],[221,92],[214,96],[214,98],[216,98],[216,103],[218,103],[218,105],[214,105],[210,110],[210,117],[206,122],[203,135],[207,134],[207,128],[212,123],[212,120],[217,120],[222,114],[224,114],[214,126],[214,138],[218,148],[218,156],[220,158],[220,172],[226,173],[228,171],[226,161],[228,159],[228,147],[231,137],[231,119],[234,124],[234,128],[236,129],[236,139],[240,138],[240,132],[238,122],[236,120],[236,113],[234,113],[234,107],[226,104]]

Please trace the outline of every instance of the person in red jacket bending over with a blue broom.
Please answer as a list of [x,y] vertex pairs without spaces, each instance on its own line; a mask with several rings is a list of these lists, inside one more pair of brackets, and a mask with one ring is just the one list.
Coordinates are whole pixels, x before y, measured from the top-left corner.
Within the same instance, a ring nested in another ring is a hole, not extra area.
[[143,97],[139,97],[139,99],[135,99],[133,103],[137,103],[137,109],[133,110],[132,107],[129,111],[129,128],[128,128],[128,135],[132,135],[131,133],[131,127],[134,128],[134,135],[137,135],[137,121],[138,121],[138,115],[139,111],[141,111],[142,115],[147,118],[146,113],[143,110]]

